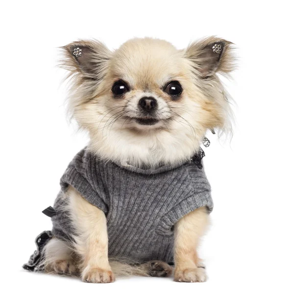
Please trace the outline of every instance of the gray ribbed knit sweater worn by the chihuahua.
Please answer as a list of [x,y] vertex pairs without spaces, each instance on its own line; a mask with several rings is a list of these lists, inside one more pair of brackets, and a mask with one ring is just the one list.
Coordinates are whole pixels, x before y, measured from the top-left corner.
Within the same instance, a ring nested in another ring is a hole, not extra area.
[[135,261],[173,261],[173,225],[199,207],[213,209],[204,170],[191,161],[178,166],[139,169],[98,159],[84,148],[60,181],[52,217],[53,234],[70,241],[69,215],[61,211],[69,185],[107,218],[109,256]]

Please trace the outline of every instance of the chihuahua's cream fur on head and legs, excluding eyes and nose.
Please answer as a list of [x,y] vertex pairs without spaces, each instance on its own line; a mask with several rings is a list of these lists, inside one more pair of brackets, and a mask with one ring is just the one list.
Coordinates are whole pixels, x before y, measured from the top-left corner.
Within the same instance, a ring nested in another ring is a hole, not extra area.
[[[220,44],[220,54],[212,46]],[[74,48],[82,49],[75,57]],[[177,164],[190,158],[205,133],[215,129],[231,132],[230,97],[217,73],[234,69],[231,42],[210,37],[191,43],[184,50],[157,39],[133,39],[111,52],[94,40],[73,42],[63,49],[61,66],[69,70],[69,112],[90,135],[89,148],[105,160],[136,167]],[[113,84],[123,81],[128,91],[116,97]],[[171,81],[181,84],[179,97],[166,93]],[[157,101],[156,122],[142,125],[139,101]],[[87,282],[107,283],[115,274],[167,276],[171,268],[158,261],[130,265],[109,262],[104,213],[69,188],[68,211],[76,236],[74,243],[52,239],[46,246],[47,272],[80,274]],[[199,238],[208,224],[204,208],[184,216],[175,224],[175,272],[180,282],[203,282],[206,272],[197,256]],[[159,273],[158,273],[159,272]]]

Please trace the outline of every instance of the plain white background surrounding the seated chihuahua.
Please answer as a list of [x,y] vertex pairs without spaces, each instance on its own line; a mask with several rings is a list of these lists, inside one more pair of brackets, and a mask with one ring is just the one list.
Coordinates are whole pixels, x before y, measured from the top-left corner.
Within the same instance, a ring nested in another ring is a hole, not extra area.
[[[284,292],[285,42],[281,1],[6,1],[0,16],[1,282],[4,292]],[[265,2],[264,2],[265,3]],[[41,211],[87,143],[65,118],[57,47],[95,38],[117,48],[132,37],[183,48],[218,35],[238,47],[228,90],[237,102],[231,144],[209,135],[205,169],[212,228],[201,255],[209,280],[131,277],[113,284],[25,272],[34,238],[51,228]],[[100,291],[98,291],[100,290]],[[3,291],[2,291],[3,292]]]

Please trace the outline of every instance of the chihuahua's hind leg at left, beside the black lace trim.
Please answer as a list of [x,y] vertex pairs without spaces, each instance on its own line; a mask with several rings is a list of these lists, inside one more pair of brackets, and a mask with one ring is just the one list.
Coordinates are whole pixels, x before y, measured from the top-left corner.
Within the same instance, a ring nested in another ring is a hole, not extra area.
[[55,272],[59,274],[77,274],[74,262],[74,253],[66,241],[52,238],[48,241],[44,249],[45,272]]

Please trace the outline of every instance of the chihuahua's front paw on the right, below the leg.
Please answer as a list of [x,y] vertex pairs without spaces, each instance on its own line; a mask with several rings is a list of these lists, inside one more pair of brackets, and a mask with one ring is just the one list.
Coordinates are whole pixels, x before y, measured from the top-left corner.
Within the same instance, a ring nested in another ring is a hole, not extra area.
[[174,281],[176,282],[205,282],[207,280],[204,268],[175,269]]

